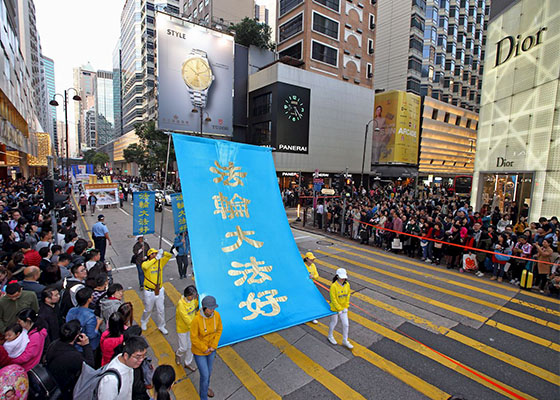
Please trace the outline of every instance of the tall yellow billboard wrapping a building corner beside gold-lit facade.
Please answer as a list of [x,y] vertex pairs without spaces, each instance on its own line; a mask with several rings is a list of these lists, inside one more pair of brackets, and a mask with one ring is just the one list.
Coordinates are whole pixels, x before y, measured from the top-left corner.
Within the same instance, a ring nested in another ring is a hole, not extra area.
[[393,90],[375,96],[371,164],[417,164],[420,96]]

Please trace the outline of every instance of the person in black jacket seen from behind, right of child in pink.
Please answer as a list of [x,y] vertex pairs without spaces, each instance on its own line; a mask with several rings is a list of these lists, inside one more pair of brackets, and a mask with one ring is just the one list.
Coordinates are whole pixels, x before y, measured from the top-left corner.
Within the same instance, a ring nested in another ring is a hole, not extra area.
[[[72,400],[72,392],[82,371],[82,363],[94,367],[93,350],[88,337],[80,333],[80,322],[72,320],[60,328],[60,339],[54,341],[47,350],[47,369],[58,383],[61,399]],[[82,347],[80,353],[74,344]]]

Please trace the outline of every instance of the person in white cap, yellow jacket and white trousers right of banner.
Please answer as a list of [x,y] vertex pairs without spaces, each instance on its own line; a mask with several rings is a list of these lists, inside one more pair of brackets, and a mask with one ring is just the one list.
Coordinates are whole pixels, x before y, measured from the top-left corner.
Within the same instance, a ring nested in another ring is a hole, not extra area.
[[342,322],[342,344],[349,349],[354,346],[348,341],[348,306],[350,305],[350,284],[348,283],[348,274],[344,268],[336,270],[336,275],[333,278],[333,284],[330,289],[331,297],[331,311],[336,314],[331,316],[331,323],[329,324],[329,342],[337,344],[334,338],[334,328],[338,323],[338,318]]

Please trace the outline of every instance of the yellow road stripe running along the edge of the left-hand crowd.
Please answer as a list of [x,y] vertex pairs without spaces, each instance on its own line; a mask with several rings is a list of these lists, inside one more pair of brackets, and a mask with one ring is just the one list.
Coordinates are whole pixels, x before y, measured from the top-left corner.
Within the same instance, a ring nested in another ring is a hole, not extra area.
[[[125,301],[132,303],[134,310],[134,320],[140,324],[140,317],[144,310],[144,304],[140,297],[134,290],[127,290],[124,293]],[[178,399],[198,399],[198,392],[196,391],[191,380],[187,377],[185,369],[175,363],[175,352],[169,342],[165,339],[162,333],[156,328],[156,325],[150,318],[148,322],[148,329],[143,333],[144,337],[150,344],[155,356],[158,359],[158,364],[168,364],[175,370],[176,384],[173,385],[173,393]]]

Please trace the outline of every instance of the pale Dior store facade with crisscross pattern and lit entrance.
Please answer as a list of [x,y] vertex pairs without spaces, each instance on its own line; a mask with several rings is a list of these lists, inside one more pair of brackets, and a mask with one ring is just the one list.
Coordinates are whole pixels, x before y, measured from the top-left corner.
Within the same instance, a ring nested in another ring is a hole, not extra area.
[[[494,11],[492,11],[494,13]],[[560,2],[491,16],[471,202],[530,221],[560,210]]]

